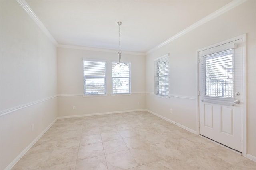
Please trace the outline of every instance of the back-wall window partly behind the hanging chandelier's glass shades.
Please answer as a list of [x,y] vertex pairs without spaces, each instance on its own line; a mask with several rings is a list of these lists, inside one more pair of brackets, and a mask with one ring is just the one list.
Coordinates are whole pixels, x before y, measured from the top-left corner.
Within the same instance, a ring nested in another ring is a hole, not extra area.
[[114,71],[116,62],[112,62],[112,94],[127,94],[130,90],[130,63],[126,63],[129,70],[124,71],[124,65],[121,66],[120,71]]

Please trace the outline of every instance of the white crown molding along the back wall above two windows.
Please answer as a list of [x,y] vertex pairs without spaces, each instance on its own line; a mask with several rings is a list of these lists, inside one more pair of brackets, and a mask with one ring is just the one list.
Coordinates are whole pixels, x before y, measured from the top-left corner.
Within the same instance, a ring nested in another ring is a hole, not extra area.
[[[88,50],[88,51],[99,51],[99,52],[108,52],[108,53],[118,53],[118,50],[115,50],[115,49],[104,49],[104,48],[85,47],[85,46],[77,46],[77,45],[58,44],[57,47],[59,47],[59,48],[66,48],[66,49],[79,49],[79,50]],[[122,54],[142,55],[142,56],[145,56],[145,55],[146,55],[146,53],[142,53],[142,52],[133,52],[133,51],[122,51]]]

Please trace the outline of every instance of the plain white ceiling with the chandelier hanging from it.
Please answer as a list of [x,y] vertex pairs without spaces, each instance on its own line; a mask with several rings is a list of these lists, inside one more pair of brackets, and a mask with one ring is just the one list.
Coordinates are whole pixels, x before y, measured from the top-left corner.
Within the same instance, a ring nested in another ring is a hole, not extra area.
[[147,52],[231,0],[26,0],[60,45]]

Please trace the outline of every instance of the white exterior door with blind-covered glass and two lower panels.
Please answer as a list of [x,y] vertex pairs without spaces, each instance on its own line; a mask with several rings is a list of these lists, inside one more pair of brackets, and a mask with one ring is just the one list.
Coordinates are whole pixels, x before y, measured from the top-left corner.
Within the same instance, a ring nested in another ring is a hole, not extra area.
[[198,54],[200,135],[242,152],[242,39]]

